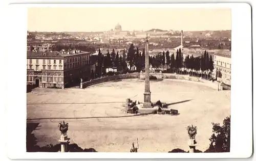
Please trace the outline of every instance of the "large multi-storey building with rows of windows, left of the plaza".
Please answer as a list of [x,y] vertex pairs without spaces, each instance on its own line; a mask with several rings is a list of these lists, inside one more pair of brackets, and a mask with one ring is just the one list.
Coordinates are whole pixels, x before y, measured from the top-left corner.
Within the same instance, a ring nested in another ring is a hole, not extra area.
[[90,53],[72,51],[28,51],[27,84],[42,88],[76,86],[90,79]]

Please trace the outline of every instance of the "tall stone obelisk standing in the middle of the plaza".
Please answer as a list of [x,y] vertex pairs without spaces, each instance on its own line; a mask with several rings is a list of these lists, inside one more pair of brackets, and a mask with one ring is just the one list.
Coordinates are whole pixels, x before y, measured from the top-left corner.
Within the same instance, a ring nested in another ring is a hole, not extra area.
[[142,108],[152,108],[151,105],[151,92],[150,92],[150,55],[148,53],[148,39],[146,34],[146,47],[145,47],[145,92],[144,103]]

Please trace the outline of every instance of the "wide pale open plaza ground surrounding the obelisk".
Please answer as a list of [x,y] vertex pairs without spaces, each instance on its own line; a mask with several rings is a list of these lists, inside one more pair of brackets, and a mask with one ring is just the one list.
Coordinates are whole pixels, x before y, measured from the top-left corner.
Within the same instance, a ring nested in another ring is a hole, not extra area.
[[139,140],[139,152],[189,150],[186,126],[198,127],[197,149],[208,148],[211,122],[230,115],[230,91],[204,83],[164,79],[151,82],[151,100],[166,102],[180,115],[126,114],[126,98],[143,102],[144,82],[110,82],[86,89],[37,88],[27,93],[27,122],[39,123],[32,133],[37,144],[57,144],[58,122],[69,123],[68,137],[81,148],[99,152],[129,152]]

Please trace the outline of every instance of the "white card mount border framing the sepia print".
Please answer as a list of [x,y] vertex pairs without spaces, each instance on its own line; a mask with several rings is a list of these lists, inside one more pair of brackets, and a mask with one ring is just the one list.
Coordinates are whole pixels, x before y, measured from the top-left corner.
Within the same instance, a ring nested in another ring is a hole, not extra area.
[[[252,153],[251,97],[251,7],[248,4],[135,4],[136,7],[228,7],[232,12],[232,90],[230,153],[27,153],[26,152],[26,33],[27,9],[33,6],[81,7],[95,5],[10,5],[8,48],[3,62],[5,71],[7,152],[9,158],[228,158],[249,157]],[[133,4],[98,4],[100,7],[134,7]],[[15,39],[14,39],[15,38]],[[13,43],[16,41],[18,43]],[[14,46],[13,46],[14,45]],[[15,50],[14,50],[15,49]],[[244,57],[241,57],[243,55]],[[13,57],[15,56],[15,57]],[[24,60],[24,62],[22,61]],[[24,70],[23,67],[24,66]],[[13,73],[15,77],[13,78]],[[243,73],[243,74],[241,74]],[[244,82],[242,82],[242,79]],[[7,89],[8,88],[8,89]],[[15,91],[15,92],[14,92]],[[8,103],[7,103],[8,102]],[[17,121],[14,121],[14,119]],[[24,120],[24,121],[23,121]],[[15,126],[13,124],[15,123]],[[16,134],[19,131],[18,135]],[[241,136],[243,135],[243,136]]]

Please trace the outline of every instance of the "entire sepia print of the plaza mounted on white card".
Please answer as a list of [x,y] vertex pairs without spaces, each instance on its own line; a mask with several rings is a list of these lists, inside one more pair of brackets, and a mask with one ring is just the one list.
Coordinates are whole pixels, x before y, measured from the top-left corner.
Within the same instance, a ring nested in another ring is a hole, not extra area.
[[27,152],[230,152],[230,8],[28,8]]

